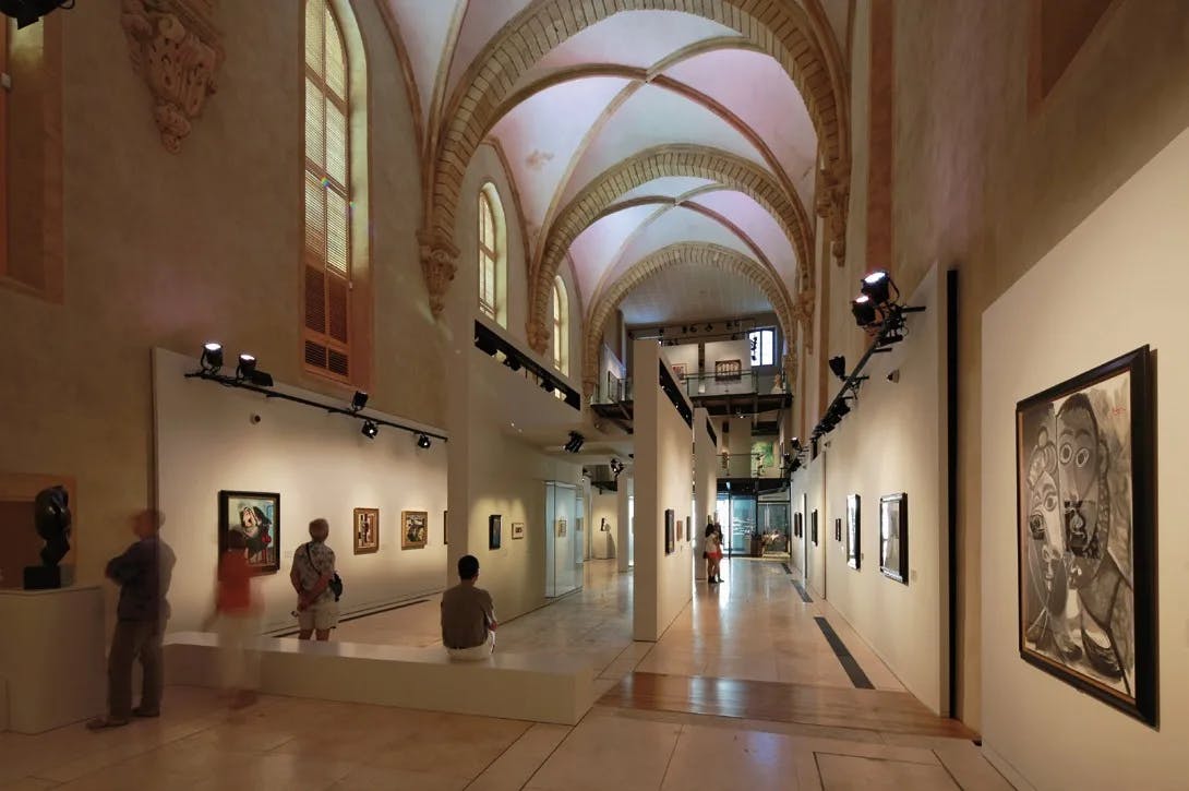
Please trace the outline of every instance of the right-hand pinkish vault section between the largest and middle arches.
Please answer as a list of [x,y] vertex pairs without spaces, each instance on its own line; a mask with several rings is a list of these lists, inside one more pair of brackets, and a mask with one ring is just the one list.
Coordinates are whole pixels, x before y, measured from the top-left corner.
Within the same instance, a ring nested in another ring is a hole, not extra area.
[[801,201],[812,206],[817,132],[797,86],[776,61],[760,52],[715,50],[665,74],[743,119],[772,149]]

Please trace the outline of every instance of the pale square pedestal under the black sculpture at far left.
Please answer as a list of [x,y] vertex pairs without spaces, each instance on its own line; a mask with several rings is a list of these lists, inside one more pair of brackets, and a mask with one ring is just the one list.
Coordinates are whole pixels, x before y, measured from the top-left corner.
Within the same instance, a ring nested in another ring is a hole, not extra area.
[[[103,711],[103,594],[97,585],[0,591],[0,724],[37,734]],[[5,695],[0,695],[2,701]]]

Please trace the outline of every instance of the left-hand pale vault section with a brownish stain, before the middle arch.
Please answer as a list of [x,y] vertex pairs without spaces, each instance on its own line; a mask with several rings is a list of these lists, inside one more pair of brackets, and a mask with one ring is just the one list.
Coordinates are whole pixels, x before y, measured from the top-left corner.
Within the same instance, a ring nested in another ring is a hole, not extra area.
[[524,216],[540,227],[558,184],[608,103],[628,84],[616,77],[587,77],[534,94],[492,130],[520,188]]

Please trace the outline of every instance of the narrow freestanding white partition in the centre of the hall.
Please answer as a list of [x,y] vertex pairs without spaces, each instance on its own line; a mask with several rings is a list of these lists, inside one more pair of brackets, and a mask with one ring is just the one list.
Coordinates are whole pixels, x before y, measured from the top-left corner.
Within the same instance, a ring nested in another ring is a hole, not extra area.
[[[673,511],[674,522],[684,523],[690,516],[693,431],[660,387],[662,357],[656,341],[635,341],[634,359],[637,485],[633,635],[655,641],[691,598],[692,545],[674,535],[672,552],[666,552],[665,511]],[[678,397],[685,398],[680,393]],[[686,407],[692,415],[688,402]]]

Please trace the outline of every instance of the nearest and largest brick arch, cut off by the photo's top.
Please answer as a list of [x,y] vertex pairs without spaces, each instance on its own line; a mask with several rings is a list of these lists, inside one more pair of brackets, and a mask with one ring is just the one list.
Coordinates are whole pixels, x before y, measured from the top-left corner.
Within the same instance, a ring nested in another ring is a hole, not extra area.
[[[435,145],[426,219],[419,239],[433,295],[453,278],[452,239],[467,164],[517,80],[546,52],[621,11],[675,11],[711,19],[741,34],[741,43],[770,55],[801,93],[828,167],[849,163],[845,107],[836,95],[831,63],[804,8],[773,0],[540,0],[487,43],[467,68]],[[809,260],[806,258],[805,260]],[[440,300],[439,300],[440,303]]]

